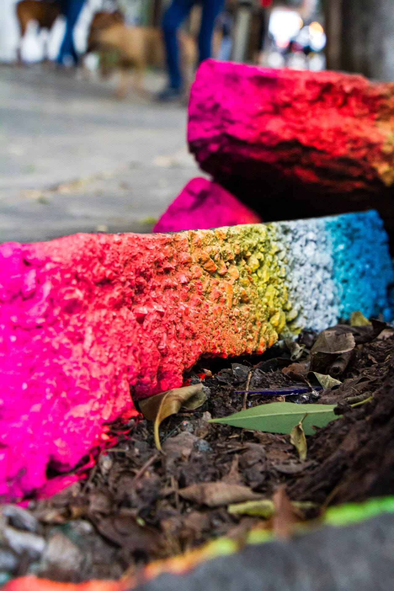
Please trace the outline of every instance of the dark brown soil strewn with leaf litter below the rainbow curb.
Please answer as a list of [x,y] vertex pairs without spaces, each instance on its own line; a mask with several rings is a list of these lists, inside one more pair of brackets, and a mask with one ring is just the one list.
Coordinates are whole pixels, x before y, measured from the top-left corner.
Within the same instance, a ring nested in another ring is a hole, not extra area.
[[[165,454],[155,449],[152,424],[143,418],[112,424],[116,446],[99,453],[87,480],[49,500],[30,502],[28,513],[36,520],[30,530],[47,541],[44,552],[13,554],[13,566],[11,561],[4,570],[74,582],[114,578],[211,538],[237,537],[260,521],[229,514],[227,502],[209,508],[185,501],[178,491],[195,483],[239,484],[266,498],[284,484],[291,499],[314,501],[320,508],[394,493],[394,329],[378,321],[336,327],[338,335],[349,332],[356,345],[345,359],[332,353],[318,359],[320,370],[324,364],[325,371],[335,366],[343,384],[320,392],[311,387],[285,399],[236,392],[245,390],[248,376],[250,390],[312,384],[314,333],[299,336],[301,349],[287,343],[258,359],[200,363],[188,379],[194,383],[205,375],[209,397],[198,410],[181,411],[162,423]],[[341,416],[307,437],[304,462],[287,435],[207,423],[243,404],[278,400],[338,404]],[[357,402],[362,404],[350,406]],[[8,523],[29,529],[20,516],[11,515]],[[7,552],[0,540],[0,571]]]

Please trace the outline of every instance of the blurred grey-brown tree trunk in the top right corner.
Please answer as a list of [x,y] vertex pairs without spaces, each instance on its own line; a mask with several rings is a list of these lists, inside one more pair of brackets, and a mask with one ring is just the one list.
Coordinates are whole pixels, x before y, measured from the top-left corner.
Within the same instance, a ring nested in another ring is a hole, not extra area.
[[394,80],[393,0],[325,0],[327,67]]

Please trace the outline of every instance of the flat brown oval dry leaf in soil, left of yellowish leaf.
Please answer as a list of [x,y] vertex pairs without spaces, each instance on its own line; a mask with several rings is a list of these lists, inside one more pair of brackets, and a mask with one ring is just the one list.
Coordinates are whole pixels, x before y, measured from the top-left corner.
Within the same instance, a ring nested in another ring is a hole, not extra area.
[[232,503],[261,499],[261,495],[253,492],[248,486],[229,484],[227,482],[200,482],[181,489],[179,494],[187,501],[209,507],[220,507]]

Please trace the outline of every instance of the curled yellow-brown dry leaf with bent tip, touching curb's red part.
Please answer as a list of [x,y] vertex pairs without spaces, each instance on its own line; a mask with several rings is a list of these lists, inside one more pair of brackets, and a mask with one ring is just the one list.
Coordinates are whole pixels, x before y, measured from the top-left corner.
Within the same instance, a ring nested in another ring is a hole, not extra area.
[[184,388],[174,388],[145,398],[139,402],[139,409],[148,421],[154,421],[155,444],[161,450],[159,426],[171,414],[177,414],[181,408],[194,410],[206,401],[208,388],[203,384],[193,384]]

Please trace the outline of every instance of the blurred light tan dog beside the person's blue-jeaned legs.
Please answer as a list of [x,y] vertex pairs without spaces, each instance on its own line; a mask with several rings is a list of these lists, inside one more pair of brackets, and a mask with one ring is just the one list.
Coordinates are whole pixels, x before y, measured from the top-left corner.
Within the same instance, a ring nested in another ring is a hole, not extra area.
[[[179,34],[180,53],[188,94],[197,59],[196,41],[186,33]],[[134,89],[145,93],[142,78],[146,66],[163,67],[165,64],[164,44],[159,27],[133,27],[126,25],[123,16],[116,12],[97,12],[90,25],[87,51],[115,51],[118,55],[121,79],[116,96],[126,95],[129,72],[135,69]]]

